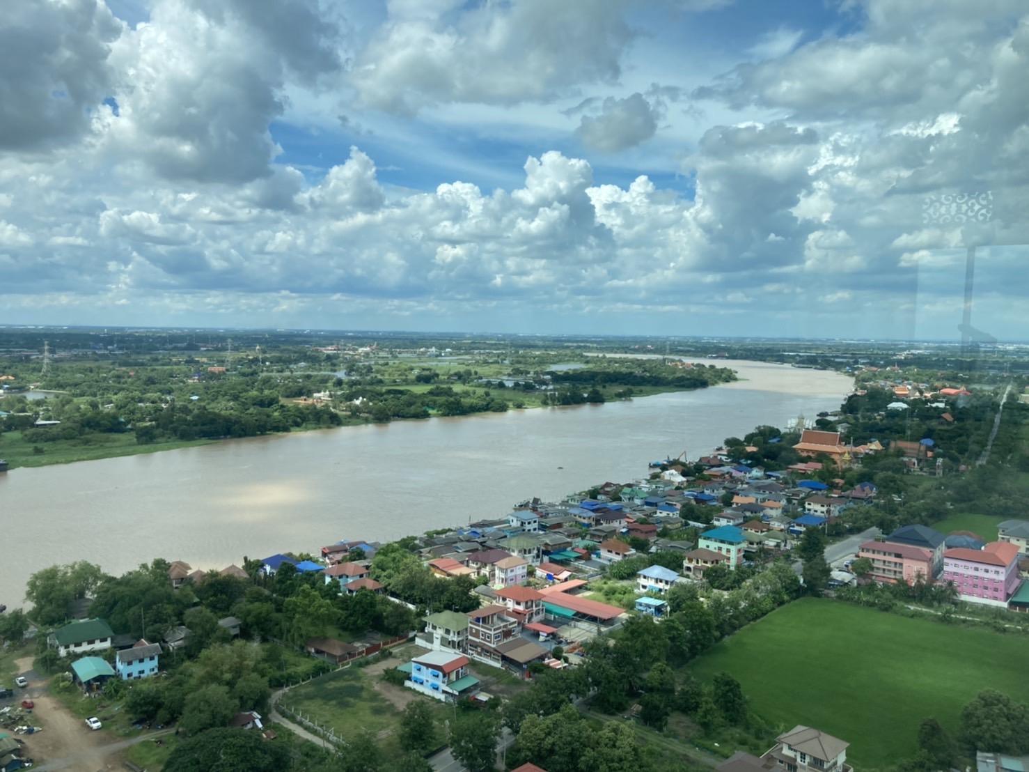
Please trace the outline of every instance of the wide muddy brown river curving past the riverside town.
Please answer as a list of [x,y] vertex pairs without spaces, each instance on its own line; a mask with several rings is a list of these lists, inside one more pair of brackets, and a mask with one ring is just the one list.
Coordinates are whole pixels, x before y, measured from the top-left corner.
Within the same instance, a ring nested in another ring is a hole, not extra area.
[[154,557],[193,568],[389,540],[629,482],[647,462],[704,455],[758,424],[833,410],[838,373],[719,360],[741,379],[624,402],[349,426],[0,473],[0,603],[30,574],[88,560],[120,573]]

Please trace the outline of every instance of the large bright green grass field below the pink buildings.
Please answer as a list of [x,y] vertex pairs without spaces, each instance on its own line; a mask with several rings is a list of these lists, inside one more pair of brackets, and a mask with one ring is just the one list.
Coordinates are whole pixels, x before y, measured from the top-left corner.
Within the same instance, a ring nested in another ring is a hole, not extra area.
[[704,680],[731,672],[758,715],[846,740],[848,762],[867,770],[913,756],[925,717],[957,731],[962,706],[984,689],[1029,700],[1029,681],[1019,677],[1027,643],[808,598],[744,628],[691,669]]

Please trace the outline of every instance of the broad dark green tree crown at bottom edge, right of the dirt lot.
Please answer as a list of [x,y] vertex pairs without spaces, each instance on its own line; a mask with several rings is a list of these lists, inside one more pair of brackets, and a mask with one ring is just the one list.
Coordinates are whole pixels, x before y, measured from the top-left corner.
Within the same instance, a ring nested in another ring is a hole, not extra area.
[[289,747],[265,742],[259,732],[210,729],[179,743],[165,772],[282,772],[289,769]]

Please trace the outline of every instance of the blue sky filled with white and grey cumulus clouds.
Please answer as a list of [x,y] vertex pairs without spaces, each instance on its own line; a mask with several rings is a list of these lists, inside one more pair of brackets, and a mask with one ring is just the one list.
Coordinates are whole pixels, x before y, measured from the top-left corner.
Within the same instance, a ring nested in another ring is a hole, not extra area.
[[6,0],[0,323],[1029,340],[1025,0]]

